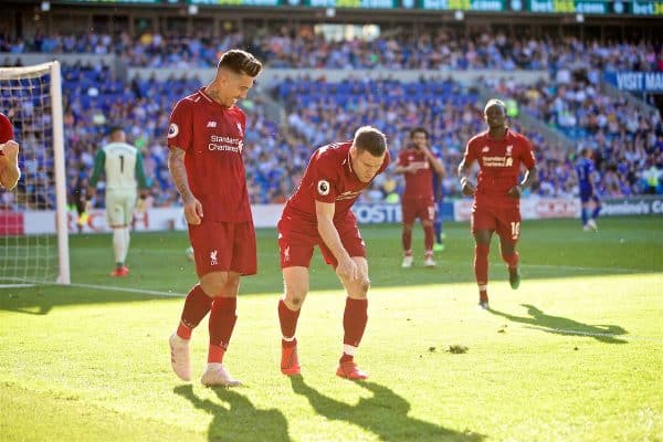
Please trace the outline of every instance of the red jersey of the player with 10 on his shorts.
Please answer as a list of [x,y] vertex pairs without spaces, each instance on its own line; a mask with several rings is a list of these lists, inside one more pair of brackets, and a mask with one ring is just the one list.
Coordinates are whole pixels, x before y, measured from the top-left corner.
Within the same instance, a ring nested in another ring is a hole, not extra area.
[[536,162],[532,143],[511,129],[503,139],[493,139],[486,130],[467,141],[465,165],[474,160],[480,167],[475,203],[518,206],[518,199],[509,197],[508,191],[518,185],[520,164],[532,169]]

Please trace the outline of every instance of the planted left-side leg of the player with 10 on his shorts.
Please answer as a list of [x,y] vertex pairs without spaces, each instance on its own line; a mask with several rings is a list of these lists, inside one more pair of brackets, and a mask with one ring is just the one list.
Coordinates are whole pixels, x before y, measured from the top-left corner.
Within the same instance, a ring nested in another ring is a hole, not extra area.
[[480,208],[473,210],[474,277],[478,286],[478,305],[482,308],[488,308],[488,253],[495,228],[495,217],[491,211]]

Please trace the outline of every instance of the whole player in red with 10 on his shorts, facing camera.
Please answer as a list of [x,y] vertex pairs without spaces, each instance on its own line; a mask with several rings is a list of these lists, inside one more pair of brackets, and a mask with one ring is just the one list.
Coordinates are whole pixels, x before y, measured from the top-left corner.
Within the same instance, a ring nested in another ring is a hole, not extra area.
[[[474,196],[474,275],[478,285],[478,305],[488,308],[488,251],[494,232],[499,235],[502,259],[508,267],[512,288],[516,290],[520,284],[516,252],[516,243],[520,238],[520,194],[535,180],[537,169],[529,140],[508,128],[504,103],[488,101],[484,119],[488,129],[467,143],[465,156],[459,165],[459,177],[463,194]],[[467,173],[476,160],[480,171],[474,186]],[[520,164],[527,171],[518,182]]]

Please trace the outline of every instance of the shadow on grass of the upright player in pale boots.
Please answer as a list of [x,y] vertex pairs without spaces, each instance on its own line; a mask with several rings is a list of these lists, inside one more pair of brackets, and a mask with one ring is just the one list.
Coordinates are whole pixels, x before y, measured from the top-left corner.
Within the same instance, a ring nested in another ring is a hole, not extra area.
[[[208,431],[209,441],[291,441],[287,420],[281,411],[259,410],[244,396],[229,388],[217,387],[212,390],[222,403],[200,399],[190,385],[173,389],[193,407],[213,417]],[[224,404],[230,406],[230,410]]]

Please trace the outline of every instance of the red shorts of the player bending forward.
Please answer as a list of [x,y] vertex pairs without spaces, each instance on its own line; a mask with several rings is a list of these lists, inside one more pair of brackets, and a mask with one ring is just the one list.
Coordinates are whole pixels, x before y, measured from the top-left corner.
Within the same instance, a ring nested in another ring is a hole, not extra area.
[[[366,244],[357,228],[357,219],[348,213],[348,217],[335,223],[340,242],[350,256],[366,256]],[[278,249],[281,251],[281,269],[308,267],[313,257],[313,249],[320,248],[325,262],[334,267],[338,261],[325,245],[317,232],[317,225],[306,223],[292,217],[282,217],[278,221]]]

